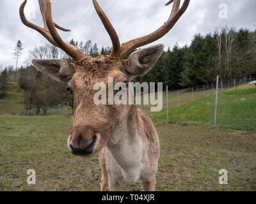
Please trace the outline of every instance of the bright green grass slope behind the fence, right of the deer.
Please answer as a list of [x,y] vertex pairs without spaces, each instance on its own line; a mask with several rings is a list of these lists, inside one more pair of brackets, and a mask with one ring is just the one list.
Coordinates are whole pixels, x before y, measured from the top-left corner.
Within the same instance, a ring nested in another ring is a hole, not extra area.
[[[191,94],[191,93],[189,93]],[[166,94],[164,94],[165,96]],[[208,92],[205,97],[198,95],[197,99],[189,100],[188,93],[182,97],[188,100],[177,105],[173,102],[173,94],[168,97],[168,119],[172,122],[200,123],[206,126],[214,124],[215,94]],[[166,104],[166,97],[163,97]],[[145,106],[145,112],[156,123],[166,121],[166,108],[161,112],[149,112],[150,106]],[[217,126],[238,130],[256,130],[256,88],[255,85],[242,85],[234,89],[220,92],[218,95]]]

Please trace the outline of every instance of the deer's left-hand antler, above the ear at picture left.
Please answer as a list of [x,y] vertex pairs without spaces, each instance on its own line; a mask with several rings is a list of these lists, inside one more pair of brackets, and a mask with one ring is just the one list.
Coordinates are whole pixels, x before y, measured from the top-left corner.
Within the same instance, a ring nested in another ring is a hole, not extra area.
[[60,35],[58,34],[56,27],[62,31],[70,31],[60,25],[56,24],[52,20],[52,13],[51,13],[51,2],[50,0],[39,0],[40,10],[42,13],[42,17],[44,20],[44,28],[39,27],[38,25],[32,24],[26,19],[24,14],[24,8],[26,6],[27,0],[25,0],[20,5],[20,19],[22,20],[23,24],[27,25],[31,29],[35,29],[40,34],[42,34],[52,45],[61,48],[64,52],[66,52],[70,57],[73,57],[75,61],[79,61],[86,57],[82,50],[77,48],[74,45],[70,45],[65,43]]

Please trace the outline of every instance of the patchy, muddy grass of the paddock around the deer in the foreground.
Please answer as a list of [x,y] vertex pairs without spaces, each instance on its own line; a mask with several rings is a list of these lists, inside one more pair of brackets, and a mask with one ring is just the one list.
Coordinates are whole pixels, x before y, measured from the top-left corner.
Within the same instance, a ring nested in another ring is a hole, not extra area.
[[[1,191],[99,191],[99,159],[66,147],[71,117],[0,116]],[[157,191],[256,191],[256,131],[161,124]],[[36,185],[26,184],[28,169]],[[228,185],[218,171],[228,170]],[[141,184],[126,190],[140,191]]]

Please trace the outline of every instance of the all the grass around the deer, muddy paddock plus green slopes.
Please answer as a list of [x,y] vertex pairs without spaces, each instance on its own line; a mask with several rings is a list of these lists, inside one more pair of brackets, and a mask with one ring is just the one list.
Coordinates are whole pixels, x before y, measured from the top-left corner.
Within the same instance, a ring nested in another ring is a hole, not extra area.
[[[212,90],[169,92],[168,113],[145,112],[156,124],[161,146],[157,191],[256,191],[256,89],[242,85],[220,92],[218,128]],[[71,117],[11,116],[23,110],[17,84],[0,101],[0,191],[99,191],[99,159],[83,159],[66,147]],[[163,94],[166,103],[166,94]],[[63,109],[49,110],[65,115]],[[225,129],[223,129],[225,128]],[[251,131],[246,131],[251,130]],[[36,185],[26,184],[28,169]],[[228,185],[218,184],[218,171],[228,170]],[[126,186],[141,191],[141,184]]]

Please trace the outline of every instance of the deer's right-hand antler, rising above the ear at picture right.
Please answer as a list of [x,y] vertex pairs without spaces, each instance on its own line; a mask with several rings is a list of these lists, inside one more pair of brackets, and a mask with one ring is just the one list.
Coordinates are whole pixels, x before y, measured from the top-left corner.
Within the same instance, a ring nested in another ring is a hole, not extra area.
[[183,15],[183,13],[187,10],[190,0],[184,0],[184,3],[182,4],[180,8],[180,0],[170,0],[165,5],[169,5],[173,3],[173,8],[170,17],[168,18],[167,22],[165,22],[164,25],[159,27],[156,31],[154,31],[151,34],[148,34],[147,36],[143,36],[141,38],[136,38],[134,40],[127,41],[126,43],[122,43],[120,45],[118,36],[116,34],[115,29],[111,25],[111,23],[108,20],[108,17],[102,11],[99,4],[97,3],[97,0],[93,0],[93,4],[95,6],[95,9],[102,20],[104,26],[106,27],[106,30],[109,33],[109,36],[113,43],[113,51],[111,52],[112,57],[119,57],[124,58],[125,55],[130,52],[131,50],[141,47],[143,45],[147,45],[149,43],[152,43],[156,40],[159,40],[162,38],[166,33],[172,29],[172,27],[176,24],[176,22],[179,20],[179,18]]

